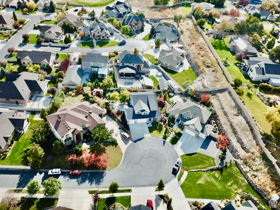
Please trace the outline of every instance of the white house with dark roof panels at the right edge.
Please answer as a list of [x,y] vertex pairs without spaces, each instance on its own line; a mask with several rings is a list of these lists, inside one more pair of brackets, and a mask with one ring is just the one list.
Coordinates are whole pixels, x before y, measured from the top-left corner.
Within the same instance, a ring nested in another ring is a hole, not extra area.
[[270,78],[280,78],[280,65],[274,64],[267,57],[250,57],[243,60],[241,70],[251,78],[252,81],[268,81]]

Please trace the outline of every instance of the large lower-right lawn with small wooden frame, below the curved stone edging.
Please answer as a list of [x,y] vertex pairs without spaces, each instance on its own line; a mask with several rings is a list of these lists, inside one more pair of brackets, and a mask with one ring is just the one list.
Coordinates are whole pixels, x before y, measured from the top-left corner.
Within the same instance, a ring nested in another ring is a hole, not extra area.
[[222,173],[220,171],[216,172],[221,176],[220,181],[214,174],[211,174],[212,171],[188,173],[187,178],[181,185],[185,197],[232,200],[237,192],[247,192],[253,194],[259,202],[270,209],[265,200],[247,183],[234,163],[223,169]]

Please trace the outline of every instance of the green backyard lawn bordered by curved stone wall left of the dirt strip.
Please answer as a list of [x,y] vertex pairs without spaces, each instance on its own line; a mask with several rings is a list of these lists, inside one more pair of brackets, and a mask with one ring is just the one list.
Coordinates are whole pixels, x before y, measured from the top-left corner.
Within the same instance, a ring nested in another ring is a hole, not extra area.
[[178,73],[177,71],[169,70],[165,67],[162,67],[179,85],[183,87],[183,83],[187,81],[186,83],[191,85],[192,81],[194,81],[197,77],[195,76],[195,73],[192,71],[192,68],[189,67],[189,69],[185,69],[184,71],[181,71]]

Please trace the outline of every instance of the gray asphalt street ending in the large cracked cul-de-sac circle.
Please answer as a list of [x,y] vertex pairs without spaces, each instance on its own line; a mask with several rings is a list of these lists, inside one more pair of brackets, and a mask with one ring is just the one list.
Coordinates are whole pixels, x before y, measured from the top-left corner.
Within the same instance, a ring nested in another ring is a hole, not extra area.
[[[78,177],[64,172],[57,178],[63,189],[108,188],[112,181],[118,182],[120,187],[157,185],[161,178],[165,183],[174,179],[176,174],[172,168],[178,157],[170,143],[157,137],[145,137],[128,146],[121,165],[113,171],[83,172]],[[32,179],[42,183],[47,178],[45,172],[0,171],[0,186],[24,188]]]

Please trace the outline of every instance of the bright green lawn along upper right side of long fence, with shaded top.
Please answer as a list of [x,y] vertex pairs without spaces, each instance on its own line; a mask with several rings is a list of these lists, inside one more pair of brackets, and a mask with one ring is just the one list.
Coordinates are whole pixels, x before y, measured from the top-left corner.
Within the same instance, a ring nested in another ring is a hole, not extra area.
[[239,62],[235,60],[234,53],[232,53],[227,47],[227,43],[230,41],[230,38],[226,37],[224,39],[225,42],[218,39],[216,39],[216,42],[214,39],[209,39],[209,41],[211,42],[213,48],[216,50],[221,59],[228,57],[228,61],[231,65],[225,68],[227,69],[232,79],[240,78],[242,80],[242,83],[250,83],[251,81],[249,79],[249,76],[247,74],[242,74],[240,69],[236,66],[236,64],[239,64]]

